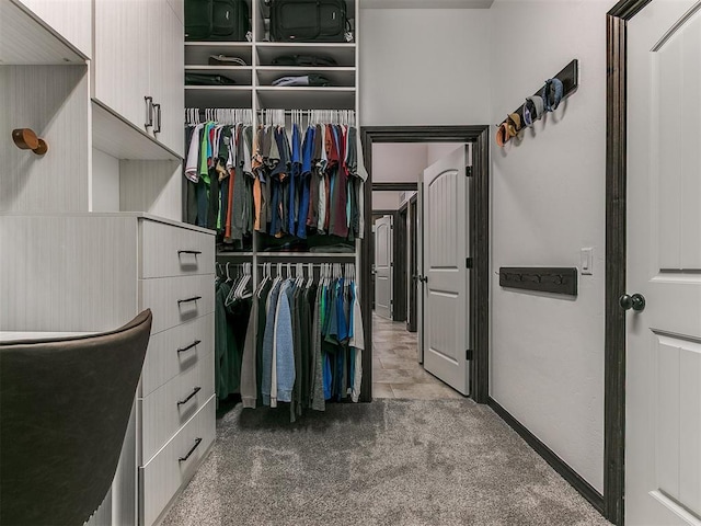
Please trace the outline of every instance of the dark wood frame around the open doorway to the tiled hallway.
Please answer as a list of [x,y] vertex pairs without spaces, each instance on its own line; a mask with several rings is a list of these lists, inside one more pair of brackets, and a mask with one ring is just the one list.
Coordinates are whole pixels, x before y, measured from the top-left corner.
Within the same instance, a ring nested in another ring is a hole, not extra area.
[[[471,142],[472,191],[470,192],[471,254],[470,273],[470,327],[473,359],[470,364],[470,397],[478,403],[489,401],[489,344],[490,344],[490,126],[364,126],[360,130],[365,165],[369,178],[365,185],[365,205],[372,209],[372,145],[380,142]],[[369,216],[368,216],[369,217]],[[371,239],[370,221],[365,224],[365,239]],[[360,272],[369,276],[372,254],[368,243],[363,243]],[[370,279],[363,279],[363,312],[371,312]],[[363,354],[363,392],[371,392],[372,386],[372,323],[365,321],[365,347]]]

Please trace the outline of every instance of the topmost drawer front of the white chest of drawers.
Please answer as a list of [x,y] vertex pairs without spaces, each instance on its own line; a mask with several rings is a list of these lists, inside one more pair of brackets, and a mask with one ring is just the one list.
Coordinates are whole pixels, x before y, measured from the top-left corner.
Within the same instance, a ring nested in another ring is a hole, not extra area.
[[211,274],[214,270],[214,236],[163,222],[141,221],[141,278]]

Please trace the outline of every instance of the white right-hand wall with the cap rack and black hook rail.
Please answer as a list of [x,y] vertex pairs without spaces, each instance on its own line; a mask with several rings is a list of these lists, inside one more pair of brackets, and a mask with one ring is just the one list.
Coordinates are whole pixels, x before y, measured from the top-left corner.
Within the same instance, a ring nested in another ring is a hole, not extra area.
[[606,12],[614,3],[497,0],[489,46],[491,123],[579,59],[579,89],[566,103],[522,140],[492,145],[492,268],[579,266],[579,249],[594,247],[594,275],[581,276],[570,299],[504,289],[492,274],[491,396],[599,492]]

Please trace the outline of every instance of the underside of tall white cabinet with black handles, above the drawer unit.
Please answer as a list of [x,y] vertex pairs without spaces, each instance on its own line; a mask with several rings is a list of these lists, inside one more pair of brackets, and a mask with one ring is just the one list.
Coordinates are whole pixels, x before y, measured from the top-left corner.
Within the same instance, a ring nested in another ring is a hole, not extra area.
[[92,101],[92,142],[94,148],[117,159],[182,161],[173,150],[159,144],[146,132],[135,127],[94,99]]

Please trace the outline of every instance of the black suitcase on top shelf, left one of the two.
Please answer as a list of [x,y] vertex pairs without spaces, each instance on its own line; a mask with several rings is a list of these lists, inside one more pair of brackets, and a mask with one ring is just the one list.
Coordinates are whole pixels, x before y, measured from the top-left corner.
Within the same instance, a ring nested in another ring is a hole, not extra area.
[[242,42],[250,31],[245,0],[185,0],[186,41]]

